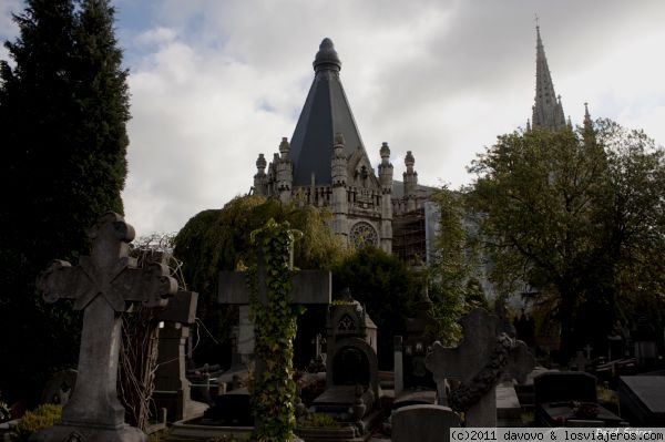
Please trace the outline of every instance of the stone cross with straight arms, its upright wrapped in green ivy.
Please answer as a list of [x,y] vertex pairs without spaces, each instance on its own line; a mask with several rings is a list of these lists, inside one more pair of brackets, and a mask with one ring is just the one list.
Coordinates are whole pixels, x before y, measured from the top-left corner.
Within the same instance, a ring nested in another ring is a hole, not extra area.
[[296,426],[293,340],[301,304],[330,304],[329,271],[293,269],[291,250],[299,233],[274,219],[252,233],[257,265],[244,274],[219,275],[219,302],[249,305],[254,322],[256,369],[249,384],[254,439],[287,441]]

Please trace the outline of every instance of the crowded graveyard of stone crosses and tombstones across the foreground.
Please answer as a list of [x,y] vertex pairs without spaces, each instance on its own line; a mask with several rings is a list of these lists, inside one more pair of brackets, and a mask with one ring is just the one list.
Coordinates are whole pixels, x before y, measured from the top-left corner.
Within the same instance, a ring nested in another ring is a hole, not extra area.
[[[263,234],[291,235],[277,224]],[[454,426],[665,426],[662,337],[647,322],[630,335],[617,328],[600,350],[580,342],[556,364],[528,318],[501,309],[468,312],[458,345],[442,346],[426,332],[424,288],[406,333],[392,337],[391,370],[379,370],[372,312],[349,289],[331,302],[329,273],[295,271],[287,248],[265,243],[248,277],[219,274],[218,302],[241,308],[231,367],[192,367],[197,294],[178,290],[161,259],[137,266],[133,228],[119,215],[100,218],[91,235],[89,257],[54,261],[39,281],[48,301],[72,299],[83,311],[76,370],[55,373],[37,410],[21,417],[3,405],[3,440],[399,442],[448,440]],[[122,317],[136,305],[158,311],[143,421],[117,394]],[[327,312],[309,364],[294,368],[297,305]]]

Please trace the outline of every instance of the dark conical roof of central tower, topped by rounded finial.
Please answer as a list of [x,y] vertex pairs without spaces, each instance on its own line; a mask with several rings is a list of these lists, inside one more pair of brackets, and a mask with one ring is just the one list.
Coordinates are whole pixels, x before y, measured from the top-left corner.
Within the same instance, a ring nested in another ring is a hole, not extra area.
[[330,39],[324,39],[314,60],[314,82],[305,100],[296,130],[291,136],[290,158],[294,163],[294,186],[331,183],[330,157],[335,134],[345,140],[346,157],[358,147],[365,152],[362,140],[339,80],[341,61]]

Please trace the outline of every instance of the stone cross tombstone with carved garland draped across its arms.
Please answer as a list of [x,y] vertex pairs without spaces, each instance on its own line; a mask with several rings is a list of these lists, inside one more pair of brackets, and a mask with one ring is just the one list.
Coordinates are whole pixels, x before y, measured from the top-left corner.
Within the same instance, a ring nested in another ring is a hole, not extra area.
[[498,318],[483,309],[460,322],[462,342],[456,348],[434,342],[426,366],[434,374],[440,399],[446,397],[446,380],[458,381],[449,402],[453,410],[466,412],[467,426],[497,426],[497,384],[504,373],[524,382],[535,366],[533,356],[524,342],[498,333]]

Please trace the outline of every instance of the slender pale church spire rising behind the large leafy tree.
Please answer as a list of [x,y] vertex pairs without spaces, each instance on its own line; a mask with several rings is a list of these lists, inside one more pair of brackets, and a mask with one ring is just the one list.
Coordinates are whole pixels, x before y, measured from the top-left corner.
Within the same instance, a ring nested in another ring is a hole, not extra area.
[[540,35],[540,27],[535,27],[535,103],[533,105],[533,127],[560,130],[565,127],[565,116],[561,96],[556,96],[550,68],[545,58],[545,49]]

